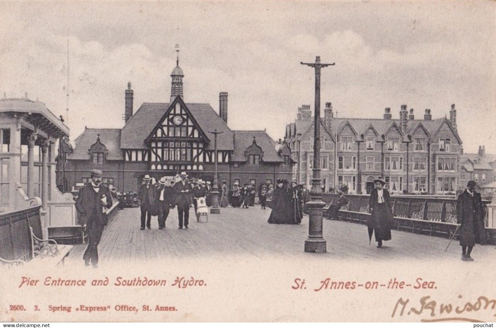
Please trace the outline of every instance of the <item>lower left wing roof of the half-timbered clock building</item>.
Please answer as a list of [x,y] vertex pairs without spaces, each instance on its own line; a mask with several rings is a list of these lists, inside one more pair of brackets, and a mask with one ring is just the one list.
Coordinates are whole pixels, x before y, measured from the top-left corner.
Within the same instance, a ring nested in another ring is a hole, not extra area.
[[89,160],[88,153],[90,147],[97,141],[100,135],[100,142],[107,148],[107,160],[122,160],[121,153],[121,129],[88,129],[74,140],[74,151],[67,155],[69,160]]

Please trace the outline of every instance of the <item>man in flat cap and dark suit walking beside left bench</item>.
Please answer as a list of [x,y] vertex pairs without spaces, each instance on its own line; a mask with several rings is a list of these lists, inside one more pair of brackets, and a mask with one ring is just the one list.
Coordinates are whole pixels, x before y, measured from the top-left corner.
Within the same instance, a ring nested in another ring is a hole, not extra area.
[[105,208],[112,207],[112,196],[109,188],[102,185],[102,175],[101,170],[91,171],[91,183],[79,190],[75,204],[80,222],[82,225],[86,223],[88,234],[88,247],[83,255],[84,264],[89,267],[91,262],[93,268],[98,268],[98,244],[103,228],[108,223]]

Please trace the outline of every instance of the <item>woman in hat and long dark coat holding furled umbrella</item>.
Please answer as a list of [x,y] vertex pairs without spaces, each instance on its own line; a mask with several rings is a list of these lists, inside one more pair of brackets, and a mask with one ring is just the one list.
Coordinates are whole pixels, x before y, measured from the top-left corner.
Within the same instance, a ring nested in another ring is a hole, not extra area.
[[382,241],[391,240],[391,224],[393,222],[393,211],[391,209],[391,199],[389,191],[384,188],[386,181],[381,177],[373,180],[375,189],[372,190],[369,198],[369,209],[371,218],[367,222],[369,228],[369,243],[372,233],[375,235],[377,248],[382,247]]

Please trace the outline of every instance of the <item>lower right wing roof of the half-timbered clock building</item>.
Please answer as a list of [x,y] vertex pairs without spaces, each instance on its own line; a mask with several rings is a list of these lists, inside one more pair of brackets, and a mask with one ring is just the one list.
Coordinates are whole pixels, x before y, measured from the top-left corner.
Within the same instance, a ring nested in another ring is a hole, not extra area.
[[253,137],[257,146],[262,149],[263,162],[284,162],[276,151],[276,142],[265,131],[233,131],[234,153],[233,162],[246,162],[245,151],[253,143]]

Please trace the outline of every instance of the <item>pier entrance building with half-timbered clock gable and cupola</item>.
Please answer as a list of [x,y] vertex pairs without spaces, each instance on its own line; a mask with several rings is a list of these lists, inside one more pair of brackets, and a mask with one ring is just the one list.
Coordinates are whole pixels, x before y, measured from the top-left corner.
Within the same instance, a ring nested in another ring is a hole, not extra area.
[[[274,182],[279,177],[291,178],[294,162],[290,159],[285,165],[283,157],[275,150],[274,140],[265,131],[243,131],[235,141],[235,133],[227,125],[227,93],[219,94],[217,113],[209,104],[184,102],[184,72],[179,67],[179,59],[171,77],[171,102],[143,103],[134,114],[134,92],[128,83],[124,127],[114,129],[112,133],[106,129],[86,129],[75,140],[70,164],[65,169],[69,172],[70,185],[88,181],[93,165],[88,161],[88,153],[96,154],[94,165],[100,165],[104,179],[108,176],[109,186],[112,182],[124,191],[137,190],[145,174],[158,179],[187,171],[191,177],[213,182],[215,163],[220,181],[225,179],[229,185],[241,180],[256,185],[269,180]],[[292,134],[294,130],[288,133]],[[250,147],[255,137],[256,143]],[[241,143],[246,138],[250,142],[248,145]],[[235,143],[238,149],[235,149]],[[257,151],[257,147],[261,151]],[[291,157],[291,153],[289,155]]]

